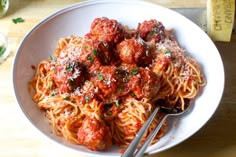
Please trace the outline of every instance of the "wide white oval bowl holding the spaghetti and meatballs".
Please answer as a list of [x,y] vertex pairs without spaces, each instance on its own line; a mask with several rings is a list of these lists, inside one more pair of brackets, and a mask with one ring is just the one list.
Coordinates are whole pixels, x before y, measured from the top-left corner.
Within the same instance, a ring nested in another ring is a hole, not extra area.
[[[174,29],[180,45],[203,67],[207,85],[196,99],[193,109],[178,118],[170,118],[170,126],[161,140],[148,148],[153,154],[171,148],[196,133],[217,109],[224,89],[224,68],[221,57],[212,40],[197,25],[167,8],[143,1],[100,0],[69,6],[49,16],[36,25],[19,46],[13,67],[13,84],[16,99],[22,112],[43,134],[69,148],[90,156],[120,156],[119,148],[93,152],[79,145],[65,142],[51,133],[51,127],[43,113],[32,101],[28,81],[34,75],[31,65],[37,65],[50,56],[60,37],[83,36],[96,17],[113,18],[136,28],[139,22],[149,19],[161,21],[167,29]],[[175,127],[172,125],[175,123]]]

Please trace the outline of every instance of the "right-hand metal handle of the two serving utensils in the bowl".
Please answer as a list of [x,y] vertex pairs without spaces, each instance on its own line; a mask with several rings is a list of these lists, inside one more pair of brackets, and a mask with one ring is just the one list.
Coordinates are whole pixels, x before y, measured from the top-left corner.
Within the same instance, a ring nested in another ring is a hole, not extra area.
[[142,145],[142,147],[139,150],[137,150],[137,153],[135,153],[135,155],[134,155],[135,157],[142,157],[143,156],[143,154],[146,151],[147,147],[152,142],[152,140],[154,139],[154,137],[156,136],[156,134],[160,130],[161,126],[163,125],[163,123],[164,123],[164,121],[166,120],[167,117],[168,117],[168,114],[163,116],[163,118],[161,119],[160,123],[155,127],[155,129],[152,131],[152,133],[150,133],[148,135],[148,137],[145,140],[145,142]]

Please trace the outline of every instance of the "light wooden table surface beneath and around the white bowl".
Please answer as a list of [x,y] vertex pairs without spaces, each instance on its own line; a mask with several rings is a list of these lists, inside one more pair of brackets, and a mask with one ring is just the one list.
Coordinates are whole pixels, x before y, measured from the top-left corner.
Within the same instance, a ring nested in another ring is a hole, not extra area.
[[[149,0],[166,7],[204,7],[205,0]],[[8,13],[0,19],[0,31],[11,42],[11,54],[0,64],[0,156],[78,157],[63,149],[30,125],[14,99],[12,63],[16,49],[28,31],[39,21],[79,0],[10,0]],[[14,24],[13,18],[24,23]],[[229,43],[215,42],[225,66],[225,91],[214,116],[195,135],[178,146],[151,157],[235,157],[236,156],[236,36]],[[212,99],[212,98],[209,98]]]

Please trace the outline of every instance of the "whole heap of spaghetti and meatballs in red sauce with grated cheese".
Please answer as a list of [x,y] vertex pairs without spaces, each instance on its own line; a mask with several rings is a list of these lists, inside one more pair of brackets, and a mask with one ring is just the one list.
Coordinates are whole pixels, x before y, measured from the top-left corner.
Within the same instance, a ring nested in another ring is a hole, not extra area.
[[58,41],[54,56],[37,66],[29,91],[56,135],[104,150],[126,148],[156,105],[184,110],[205,83],[199,65],[161,22],[128,29],[101,17],[85,36]]

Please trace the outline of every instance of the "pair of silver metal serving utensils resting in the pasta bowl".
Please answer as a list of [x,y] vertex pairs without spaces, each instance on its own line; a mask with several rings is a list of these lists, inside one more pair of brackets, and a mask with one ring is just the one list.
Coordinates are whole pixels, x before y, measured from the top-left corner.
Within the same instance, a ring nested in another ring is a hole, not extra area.
[[[163,125],[163,123],[165,122],[167,117],[169,117],[169,116],[179,116],[179,115],[185,113],[189,109],[189,106],[190,105],[187,105],[187,107],[184,110],[182,110],[178,106],[174,107],[174,108],[166,108],[166,107],[163,107],[163,106],[156,107],[156,109],[150,115],[148,120],[144,123],[142,128],[136,134],[135,138],[130,143],[130,145],[128,146],[128,148],[122,154],[121,157],[132,157],[132,156],[142,157],[144,152],[145,152],[145,150],[147,149],[149,144],[152,142],[152,140],[154,139],[154,137],[156,136],[156,134],[160,130],[161,126]],[[140,143],[144,133],[146,132],[146,130],[148,129],[149,125],[152,123],[154,117],[156,116],[156,114],[158,112],[161,112],[162,114],[164,114],[164,116],[162,117],[160,123],[156,126],[156,128],[149,134],[149,136],[145,140],[144,144],[139,149],[137,149],[137,147],[138,147],[138,145],[139,145],[139,143]],[[136,149],[137,149],[137,151],[136,151]]]

